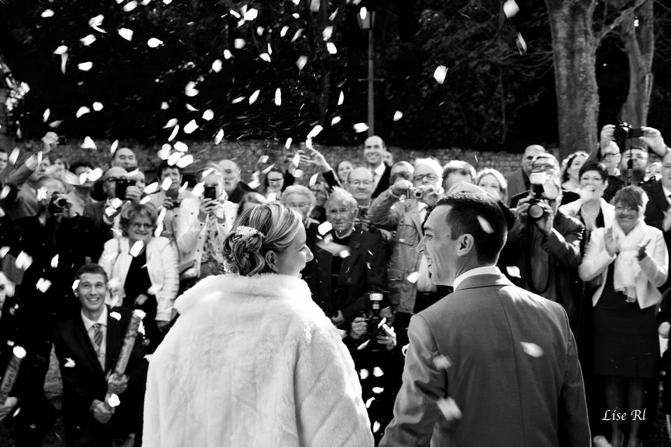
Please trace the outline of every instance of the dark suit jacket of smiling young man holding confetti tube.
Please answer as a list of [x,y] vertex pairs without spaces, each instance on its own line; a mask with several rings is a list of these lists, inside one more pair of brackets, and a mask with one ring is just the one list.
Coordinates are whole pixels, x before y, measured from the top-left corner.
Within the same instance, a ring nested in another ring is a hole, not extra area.
[[[111,316],[112,312],[119,314],[120,318],[117,320]],[[85,443],[79,445],[90,445],[84,440],[104,443],[110,436],[108,427],[94,419],[90,406],[94,400],[105,400],[107,374],[117,363],[131,315],[131,309],[108,307],[104,371],[96,357],[96,351],[80,313],[68,318],[55,331],[54,346],[63,379],[63,421],[68,446],[73,445],[75,440]],[[122,404],[117,407],[110,421],[115,423],[124,419],[127,423],[125,428],[130,432],[140,430],[141,427],[142,403],[147,379],[148,363],[144,358],[146,349],[141,340],[142,337],[138,335],[126,368],[129,385],[119,396]],[[126,420],[124,416],[129,414],[133,414],[133,417],[128,417]]]

